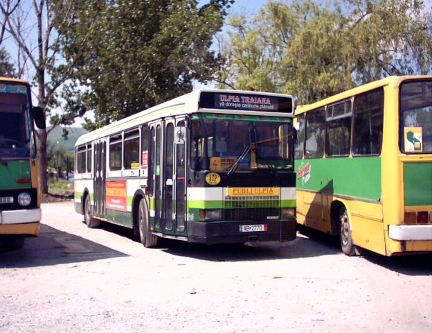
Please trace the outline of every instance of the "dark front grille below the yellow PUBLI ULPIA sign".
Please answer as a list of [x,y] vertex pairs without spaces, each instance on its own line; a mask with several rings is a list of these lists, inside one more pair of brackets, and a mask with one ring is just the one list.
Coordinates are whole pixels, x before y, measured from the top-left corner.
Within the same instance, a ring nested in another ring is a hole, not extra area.
[[226,196],[225,221],[267,221],[280,217],[279,196]]

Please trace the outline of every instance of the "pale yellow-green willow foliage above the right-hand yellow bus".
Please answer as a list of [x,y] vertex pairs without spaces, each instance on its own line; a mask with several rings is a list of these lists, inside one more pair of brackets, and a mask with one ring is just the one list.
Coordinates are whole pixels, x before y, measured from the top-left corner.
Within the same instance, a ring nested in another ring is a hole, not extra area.
[[422,0],[269,1],[230,20],[221,87],[287,92],[311,103],[389,75],[432,69]]

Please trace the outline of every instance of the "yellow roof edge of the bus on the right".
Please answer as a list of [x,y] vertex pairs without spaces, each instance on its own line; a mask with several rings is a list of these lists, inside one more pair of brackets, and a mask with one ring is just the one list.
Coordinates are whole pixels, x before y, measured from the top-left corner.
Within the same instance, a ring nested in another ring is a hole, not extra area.
[[336,103],[337,101],[342,101],[343,99],[348,99],[354,95],[361,94],[363,92],[368,92],[369,90],[384,87],[386,85],[394,85],[394,87],[399,87],[399,85],[404,80],[412,80],[418,78],[432,78],[430,75],[424,76],[388,76],[387,78],[381,78],[381,80],[373,81],[371,83],[366,83],[365,85],[359,85],[359,87],[355,87],[349,89],[345,92],[341,92],[334,96],[327,97],[326,99],[322,99],[321,101],[312,103],[312,104],[304,104],[298,105],[296,108],[296,114],[300,114],[303,112],[307,112],[309,110],[314,110],[316,108],[321,108],[324,105],[329,105],[332,103]]

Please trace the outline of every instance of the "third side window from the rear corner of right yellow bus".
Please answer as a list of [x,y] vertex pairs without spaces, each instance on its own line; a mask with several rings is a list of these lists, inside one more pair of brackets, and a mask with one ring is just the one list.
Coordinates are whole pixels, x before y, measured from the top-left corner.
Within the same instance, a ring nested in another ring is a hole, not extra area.
[[325,108],[312,110],[306,115],[306,158],[320,158],[324,153]]

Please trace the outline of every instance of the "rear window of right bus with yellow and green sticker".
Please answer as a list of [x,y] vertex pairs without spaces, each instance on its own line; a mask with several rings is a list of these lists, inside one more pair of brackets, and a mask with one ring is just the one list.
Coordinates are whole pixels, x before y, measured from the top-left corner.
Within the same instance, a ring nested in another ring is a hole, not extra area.
[[432,80],[403,83],[400,89],[401,150],[432,153]]

